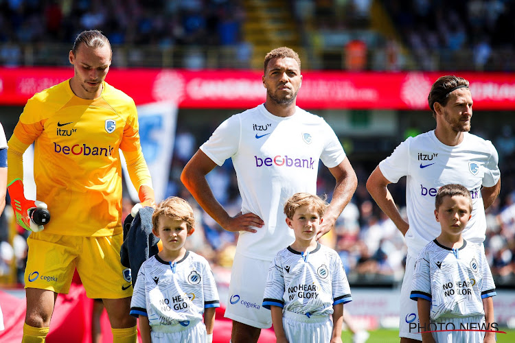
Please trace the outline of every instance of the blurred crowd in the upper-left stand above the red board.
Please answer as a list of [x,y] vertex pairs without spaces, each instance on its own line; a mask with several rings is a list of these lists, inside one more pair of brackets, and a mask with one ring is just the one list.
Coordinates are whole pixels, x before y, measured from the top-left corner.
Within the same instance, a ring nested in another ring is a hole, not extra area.
[[47,54],[52,43],[69,45],[93,28],[104,32],[114,49],[183,47],[184,60],[194,60],[198,47],[240,44],[243,20],[240,1],[233,0],[5,0],[0,1],[0,64],[21,64],[24,45],[37,50],[32,54]]

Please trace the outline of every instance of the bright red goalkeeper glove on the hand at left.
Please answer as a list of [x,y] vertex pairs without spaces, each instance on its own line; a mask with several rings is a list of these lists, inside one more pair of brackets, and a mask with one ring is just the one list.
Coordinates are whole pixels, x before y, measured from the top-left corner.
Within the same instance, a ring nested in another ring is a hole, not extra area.
[[14,217],[16,223],[25,230],[34,231],[35,233],[45,228],[43,225],[38,225],[30,218],[30,212],[33,209],[47,209],[47,204],[38,200],[27,200],[23,193],[23,183],[19,178],[16,178],[7,187],[11,197],[12,209],[14,209]]

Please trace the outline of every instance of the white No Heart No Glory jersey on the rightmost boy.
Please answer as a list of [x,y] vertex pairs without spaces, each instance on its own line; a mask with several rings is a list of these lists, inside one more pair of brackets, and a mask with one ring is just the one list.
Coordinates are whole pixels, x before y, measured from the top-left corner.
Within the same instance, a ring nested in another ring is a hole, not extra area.
[[483,298],[496,295],[485,253],[464,240],[451,249],[435,239],[418,255],[410,298],[431,301],[431,320],[484,316]]

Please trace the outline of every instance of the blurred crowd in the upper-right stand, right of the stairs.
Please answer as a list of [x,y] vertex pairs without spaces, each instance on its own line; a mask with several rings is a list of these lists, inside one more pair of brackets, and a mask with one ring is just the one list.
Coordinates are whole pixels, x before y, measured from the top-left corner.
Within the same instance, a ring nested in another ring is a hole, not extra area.
[[385,3],[420,68],[515,71],[513,1]]

